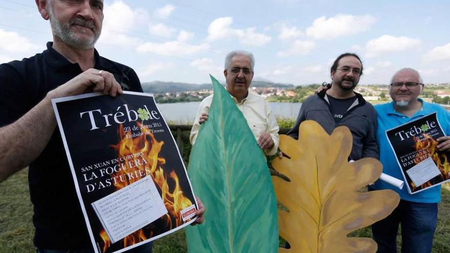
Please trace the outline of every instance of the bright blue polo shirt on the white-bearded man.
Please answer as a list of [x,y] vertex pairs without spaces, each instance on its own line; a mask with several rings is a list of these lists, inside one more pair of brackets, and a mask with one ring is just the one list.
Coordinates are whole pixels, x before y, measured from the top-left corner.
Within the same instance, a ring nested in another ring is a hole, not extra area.
[[[433,112],[437,112],[438,121],[445,132],[445,135],[450,135],[450,113],[445,110],[442,106],[432,103],[427,103],[422,99],[418,99],[422,102],[422,109],[416,112],[413,117],[408,116],[395,111],[394,102],[375,105],[375,110],[377,112],[377,122],[378,129],[376,134],[376,139],[380,150],[380,162],[383,164],[383,172],[396,177],[402,181],[403,175],[401,174],[401,169],[398,166],[397,160],[395,159],[395,154],[389,145],[386,130],[392,129],[394,127],[406,124],[411,121],[415,121]],[[441,186],[435,186],[428,190],[421,191],[415,194],[409,194],[407,186],[403,186],[403,189],[398,189],[389,183],[377,180],[375,185],[371,188],[376,190],[381,189],[391,189],[396,191],[400,198],[407,201],[423,202],[423,203],[436,203],[441,201]]]

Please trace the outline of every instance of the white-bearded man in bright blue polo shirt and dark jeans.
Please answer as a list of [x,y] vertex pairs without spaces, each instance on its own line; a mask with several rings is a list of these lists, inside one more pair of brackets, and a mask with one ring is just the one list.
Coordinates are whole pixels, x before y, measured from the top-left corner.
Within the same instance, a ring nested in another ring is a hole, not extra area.
[[[380,162],[383,172],[403,180],[386,136],[386,130],[417,120],[430,113],[437,112],[437,118],[445,135],[450,135],[450,113],[437,104],[418,99],[423,90],[420,74],[412,68],[402,68],[391,79],[389,94],[392,102],[376,105],[378,130],[377,141],[380,149]],[[450,136],[437,139],[439,150],[450,148]],[[372,233],[378,244],[377,252],[397,251],[396,238],[398,225],[401,224],[401,252],[431,252],[433,236],[437,224],[438,202],[441,201],[441,187],[409,194],[406,187],[402,190],[378,180],[371,190],[391,189],[400,195],[400,203],[387,218],[372,225]]]

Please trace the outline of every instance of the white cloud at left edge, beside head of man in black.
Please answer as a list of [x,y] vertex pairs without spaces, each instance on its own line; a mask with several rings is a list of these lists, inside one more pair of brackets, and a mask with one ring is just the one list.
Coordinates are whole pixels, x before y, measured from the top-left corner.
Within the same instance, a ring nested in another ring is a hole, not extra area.
[[27,37],[0,29],[0,49],[10,53],[29,53],[37,50],[37,46]]

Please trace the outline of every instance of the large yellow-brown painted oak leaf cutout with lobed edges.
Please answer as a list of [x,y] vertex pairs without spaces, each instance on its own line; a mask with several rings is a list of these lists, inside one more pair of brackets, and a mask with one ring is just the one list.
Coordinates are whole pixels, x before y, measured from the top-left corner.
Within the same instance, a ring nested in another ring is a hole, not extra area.
[[350,232],[387,217],[400,198],[392,190],[359,192],[381,174],[378,160],[348,163],[352,135],[347,127],[328,135],[314,121],[300,125],[299,140],[280,135],[274,168],[289,177],[273,177],[278,200],[280,236],[291,248],[279,252],[375,252],[370,238],[348,238]]

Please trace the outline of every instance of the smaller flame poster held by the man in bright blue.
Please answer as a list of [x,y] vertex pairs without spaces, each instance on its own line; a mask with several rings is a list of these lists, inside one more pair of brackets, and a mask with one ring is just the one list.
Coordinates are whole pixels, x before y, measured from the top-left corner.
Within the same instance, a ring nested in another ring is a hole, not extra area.
[[436,112],[387,130],[386,135],[410,194],[450,180],[450,152],[436,148],[436,139],[445,136]]

